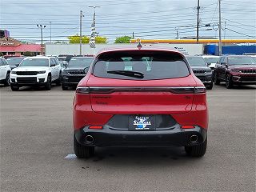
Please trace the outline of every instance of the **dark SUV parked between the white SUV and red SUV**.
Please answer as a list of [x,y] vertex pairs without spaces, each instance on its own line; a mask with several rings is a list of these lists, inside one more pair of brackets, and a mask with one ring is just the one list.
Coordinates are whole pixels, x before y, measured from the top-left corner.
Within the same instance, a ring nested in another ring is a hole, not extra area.
[[75,87],[78,82],[86,76],[86,70],[89,69],[92,57],[73,57],[64,70],[62,70],[62,90],[68,90],[69,87]]

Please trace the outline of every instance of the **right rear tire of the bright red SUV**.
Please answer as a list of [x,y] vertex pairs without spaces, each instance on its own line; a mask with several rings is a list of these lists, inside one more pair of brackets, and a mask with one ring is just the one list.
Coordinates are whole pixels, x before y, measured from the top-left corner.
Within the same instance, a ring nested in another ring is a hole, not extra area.
[[196,146],[185,146],[186,154],[188,154],[191,157],[202,157],[204,154],[206,154],[206,148],[207,148],[207,137],[204,142],[201,144],[198,144]]

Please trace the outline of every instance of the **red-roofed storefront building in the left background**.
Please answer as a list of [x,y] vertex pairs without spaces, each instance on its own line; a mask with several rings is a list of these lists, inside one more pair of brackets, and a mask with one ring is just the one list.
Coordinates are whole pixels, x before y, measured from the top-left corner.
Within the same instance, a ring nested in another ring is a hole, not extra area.
[[[0,39],[0,52],[3,55],[22,55],[25,52],[30,52],[33,55],[41,53],[41,45],[37,44],[22,44],[14,38],[1,38]],[[44,52],[44,49],[43,49]]]

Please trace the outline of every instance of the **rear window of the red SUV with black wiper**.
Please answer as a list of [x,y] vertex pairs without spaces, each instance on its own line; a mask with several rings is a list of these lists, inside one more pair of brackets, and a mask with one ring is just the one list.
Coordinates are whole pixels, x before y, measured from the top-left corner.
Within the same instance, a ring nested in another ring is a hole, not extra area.
[[94,64],[94,76],[133,80],[181,78],[190,70],[179,54],[115,52],[101,55]]

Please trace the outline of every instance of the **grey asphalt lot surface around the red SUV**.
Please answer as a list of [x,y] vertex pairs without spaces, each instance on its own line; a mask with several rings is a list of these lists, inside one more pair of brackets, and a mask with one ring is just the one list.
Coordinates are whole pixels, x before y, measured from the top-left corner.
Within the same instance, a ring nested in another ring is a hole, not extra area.
[[203,158],[178,147],[98,148],[74,154],[74,90],[0,87],[1,191],[254,191],[256,86],[208,90]]

